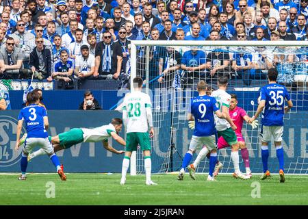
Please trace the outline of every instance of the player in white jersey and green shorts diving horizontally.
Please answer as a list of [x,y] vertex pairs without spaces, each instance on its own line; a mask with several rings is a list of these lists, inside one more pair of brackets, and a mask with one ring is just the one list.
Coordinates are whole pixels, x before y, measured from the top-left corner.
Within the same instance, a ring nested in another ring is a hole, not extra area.
[[[49,137],[51,138],[51,143],[53,144],[54,151],[61,151],[64,149],[69,149],[71,146],[75,144],[79,144],[81,142],[103,142],[103,146],[107,151],[111,151],[112,153],[122,154],[125,151],[118,151],[114,149],[110,144],[108,144],[108,138],[112,137],[116,142],[126,145],[125,140],[118,136],[118,133],[121,131],[123,125],[123,121],[120,118],[112,118],[112,122],[109,125],[103,125],[101,127],[96,127],[94,129],[86,129],[86,128],[75,128],[70,129],[70,131],[66,131],[60,133],[57,136]],[[20,144],[25,142],[25,134],[23,136],[23,141],[21,140]],[[30,159],[38,155],[44,155],[44,150],[40,149],[38,151],[34,151],[28,155],[28,162]]]

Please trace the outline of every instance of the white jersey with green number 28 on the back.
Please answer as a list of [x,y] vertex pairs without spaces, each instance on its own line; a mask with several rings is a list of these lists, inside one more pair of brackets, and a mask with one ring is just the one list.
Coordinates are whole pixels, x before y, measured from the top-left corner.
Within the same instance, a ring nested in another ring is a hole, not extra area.
[[146,117],[146,107],[151,109],[152,103],[149,94],[140,91],[129,93],[123,101],[123,118],[126,117],[126,132],[146,132],[149,131],[148,119]]

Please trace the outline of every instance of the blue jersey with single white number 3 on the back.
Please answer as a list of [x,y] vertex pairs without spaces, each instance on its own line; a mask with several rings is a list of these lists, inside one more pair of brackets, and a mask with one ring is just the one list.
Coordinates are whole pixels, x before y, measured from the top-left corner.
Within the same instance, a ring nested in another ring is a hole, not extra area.
[[47,138],[44,127],[44,116],[47,111],[44,107],[31,104],[24,107],[18,115],[18,120],[24,120],[27,129],[27,138]]

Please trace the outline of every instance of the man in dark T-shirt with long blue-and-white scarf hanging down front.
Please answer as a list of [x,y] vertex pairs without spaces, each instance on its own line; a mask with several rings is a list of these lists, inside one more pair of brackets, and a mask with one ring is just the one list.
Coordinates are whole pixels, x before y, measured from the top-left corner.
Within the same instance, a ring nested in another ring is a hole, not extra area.
[[94,77],[97,79],[118,79],[123,61],[120,44],[112,42],[110,31],[103,33],[103,41],[95,49]]

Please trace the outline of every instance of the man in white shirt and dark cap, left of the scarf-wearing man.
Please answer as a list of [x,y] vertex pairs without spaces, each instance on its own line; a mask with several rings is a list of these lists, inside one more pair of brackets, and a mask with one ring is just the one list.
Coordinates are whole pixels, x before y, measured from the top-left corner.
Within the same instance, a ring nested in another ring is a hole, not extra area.
[[93,79],[95,68],[95,57],[90,54],[87,44],[83,44],[80,48],[81,54],[75,60],[75,75],[79,79]]

